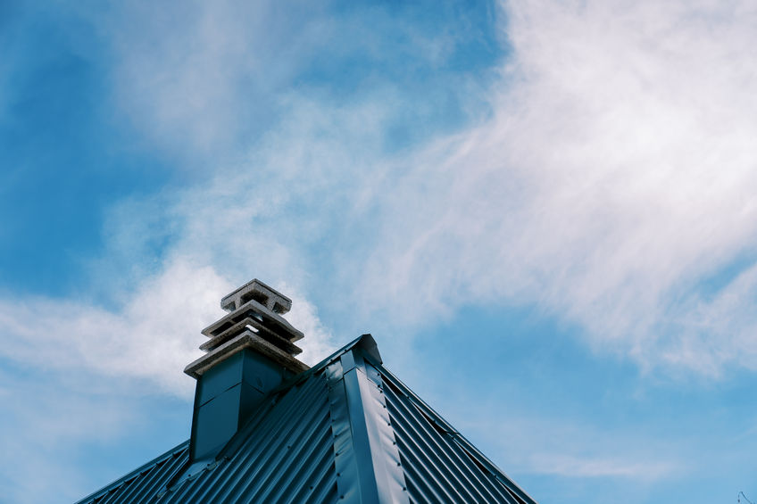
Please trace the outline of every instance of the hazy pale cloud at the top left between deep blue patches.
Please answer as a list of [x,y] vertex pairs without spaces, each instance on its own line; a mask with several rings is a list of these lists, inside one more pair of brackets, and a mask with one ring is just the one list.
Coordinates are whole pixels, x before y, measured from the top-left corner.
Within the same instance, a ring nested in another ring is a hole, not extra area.
[[307,22],[319,12],[307,3],[224,0],[134,2],[85,15],[118,59],[112,82],[121,112],[155,145],[190,153],[187,164],[269,123],[271,95],[330,36],[328,23]]

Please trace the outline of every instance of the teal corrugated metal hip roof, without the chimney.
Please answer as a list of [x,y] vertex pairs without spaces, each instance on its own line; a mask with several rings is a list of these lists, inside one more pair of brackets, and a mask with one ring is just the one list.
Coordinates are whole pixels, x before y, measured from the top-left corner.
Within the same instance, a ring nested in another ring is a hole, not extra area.
[[270,392],[211,462],[183,442],[84,503],[536,504],[383,367],[363,335]]

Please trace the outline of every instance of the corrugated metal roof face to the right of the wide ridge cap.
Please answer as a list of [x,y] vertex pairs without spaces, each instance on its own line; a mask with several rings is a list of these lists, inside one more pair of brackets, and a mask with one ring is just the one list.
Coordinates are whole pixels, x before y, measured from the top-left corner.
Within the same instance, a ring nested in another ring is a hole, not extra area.
[[412,502],[536,504],[402,382],[379,372]]

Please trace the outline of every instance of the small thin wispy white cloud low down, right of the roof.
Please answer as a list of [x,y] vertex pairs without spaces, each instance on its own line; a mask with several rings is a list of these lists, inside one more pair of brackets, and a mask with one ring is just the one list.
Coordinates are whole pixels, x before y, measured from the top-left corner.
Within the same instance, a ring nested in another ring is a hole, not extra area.
[[[463,400],[464,401],[464,400]],[[579,424],[566,417],[521,414],[519,405],[469,401],[463,432],[478,433],[487,455],[512,473],[613,478],[639,487],[692,470],[691,440],[661,439],[628,426]],[[497,421],[487,420],[497,418]],[[636,426],[638,427],[638,426]],[[635,489],[636,491],[638,488]]]

